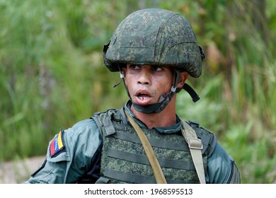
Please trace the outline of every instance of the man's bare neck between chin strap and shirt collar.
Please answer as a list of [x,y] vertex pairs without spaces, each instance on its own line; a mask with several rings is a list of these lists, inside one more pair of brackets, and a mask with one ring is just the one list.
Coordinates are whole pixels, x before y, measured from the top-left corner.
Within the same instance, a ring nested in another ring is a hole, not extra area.
[[131,110],[135,117],[141,120],[146,127],[152,129],[154,127],[171,127],[176,124],[176,97],[173,97],[171,102],[159,113],[144,113],[138,112],[131,106]]

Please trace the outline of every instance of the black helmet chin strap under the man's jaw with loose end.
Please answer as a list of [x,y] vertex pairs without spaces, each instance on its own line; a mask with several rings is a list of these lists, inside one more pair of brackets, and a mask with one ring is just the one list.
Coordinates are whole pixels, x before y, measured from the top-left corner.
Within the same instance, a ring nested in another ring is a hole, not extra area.
[[[127,85],[125,83],[125,75],[123,74],[121,69],[120,69],[120,78],[122,78],[122,80],[124,81],[127,95],[132,101],[132,98],[130,97],[130,93],[127,90]],[[173,98],[173,96],[176,95],[176,93],[178,93],[182,89],[184,89],[190,94],[190,96],[192,97],[192,101],[197,102],[197,100],[200,100],[199,95],[197,95],[197,93],[187,83],[184,83],[184,85],[181,88],[176,88],[176,85],[179,83],[180,79],[181,79],[180,71],[178,69],[175,69],[173,86],[171,86],[171,91],[169,93],[161,95],[161,97],[159,98],[159,102],[151,105],[138,105],[137,103],[132,102],[134,109],[137,110],[138,112],[144,112],[144,113],[159,113],[168,105],[168,103],[171,101],[171,98]],[[120,83],[117,83],[115,86],[117,86],[118,84]]]

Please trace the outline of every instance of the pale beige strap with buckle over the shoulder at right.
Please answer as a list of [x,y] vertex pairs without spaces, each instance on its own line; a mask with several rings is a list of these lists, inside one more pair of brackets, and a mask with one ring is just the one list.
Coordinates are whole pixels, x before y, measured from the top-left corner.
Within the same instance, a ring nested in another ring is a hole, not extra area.
[[195,170],[197,170],[198,178],[201,184],[205,184],[205,173],[202,160],[202,141],[197,138],[195,130],[190,127],[189,124],[182,121],[181,133],[183,134],[185,140],[187,141],[190,153],[192,155],[192,161],[195,163]]

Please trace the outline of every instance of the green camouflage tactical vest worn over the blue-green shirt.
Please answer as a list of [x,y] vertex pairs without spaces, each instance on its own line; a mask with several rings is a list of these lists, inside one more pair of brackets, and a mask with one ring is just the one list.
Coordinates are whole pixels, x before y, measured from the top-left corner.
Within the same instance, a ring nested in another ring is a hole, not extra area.
[[[134,128],[127,123],[123,109],[98,112],[92,117],[103,136],[100,178],[96,183],[156,183],[153,170]],[[207,157],[216,139],[212,132],[190,122],[202,140],[202,158],[207,173]],[[200,183],[192,156],[182,134],[161,134],[143,129],[168,183]]]

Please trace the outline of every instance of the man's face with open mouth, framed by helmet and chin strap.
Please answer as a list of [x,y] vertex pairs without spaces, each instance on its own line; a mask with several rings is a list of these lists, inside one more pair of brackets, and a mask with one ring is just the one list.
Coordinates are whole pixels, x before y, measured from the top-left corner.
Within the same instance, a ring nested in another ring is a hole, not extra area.
[[132,102],[138,105],[158,103],[160,96],[170,92],[173,84],[173,72],[163,66],[127,64],[123,72]]

